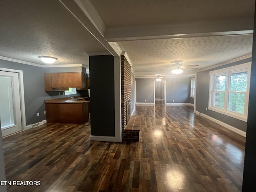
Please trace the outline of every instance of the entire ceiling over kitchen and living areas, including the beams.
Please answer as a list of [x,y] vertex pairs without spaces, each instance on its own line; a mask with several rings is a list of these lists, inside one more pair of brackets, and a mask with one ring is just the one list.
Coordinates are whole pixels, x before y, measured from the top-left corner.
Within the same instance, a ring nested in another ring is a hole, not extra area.
[[[251,54],[254,4],[255,0],[1,0],[0,56],[44,65],[38,56],[47,55],[58,58],[56,65],[88,65],[88,55],[125,51],[136,77],[168,77],[174,60],[202,69]],[[182,75],[193,74],[195,70],[184,70]]]

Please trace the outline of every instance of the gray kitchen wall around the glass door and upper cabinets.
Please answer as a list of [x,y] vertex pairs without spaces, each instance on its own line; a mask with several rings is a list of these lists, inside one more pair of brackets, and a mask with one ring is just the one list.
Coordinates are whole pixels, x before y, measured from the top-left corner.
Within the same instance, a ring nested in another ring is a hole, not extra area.
[[[60,95],[58,95],[59,92],[44,91],[44,73],[81,72],[82,67],[42,68],[37,66],[0,60],[0,68],[8,68],[23,71],[26,125],[34,124],[46,119],[46,116],[44,114],[44,100],[86,94],[86,92],[84,91],[78,91],[78,94],[66,96],[64,95],[63,91],[60,92]],[[36,115],[38,112],[40,116]]]

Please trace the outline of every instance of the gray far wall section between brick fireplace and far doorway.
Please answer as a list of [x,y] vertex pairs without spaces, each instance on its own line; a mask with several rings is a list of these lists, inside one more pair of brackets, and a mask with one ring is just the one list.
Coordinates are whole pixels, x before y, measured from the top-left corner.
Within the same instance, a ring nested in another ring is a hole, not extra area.
[[137,103],[154,103],[154,80],[155,79],[136,79]]

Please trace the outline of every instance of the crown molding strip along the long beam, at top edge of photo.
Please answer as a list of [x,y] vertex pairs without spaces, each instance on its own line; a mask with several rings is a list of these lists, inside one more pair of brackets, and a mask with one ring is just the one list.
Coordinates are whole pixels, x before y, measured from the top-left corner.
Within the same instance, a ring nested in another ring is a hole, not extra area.
[[106,26],[90,0],[74,0],[84,14],[104,37]]

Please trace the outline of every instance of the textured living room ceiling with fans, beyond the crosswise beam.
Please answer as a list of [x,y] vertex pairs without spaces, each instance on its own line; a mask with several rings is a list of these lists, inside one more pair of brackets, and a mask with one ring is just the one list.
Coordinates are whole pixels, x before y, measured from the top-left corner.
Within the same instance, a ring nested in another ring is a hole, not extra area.
[[201,69],[248,55],[252,53],[252,34],[124,41],[118,45],[127,52],[135,73],[163,74],[170,73],[174,60],[198,64],[196,68]]

